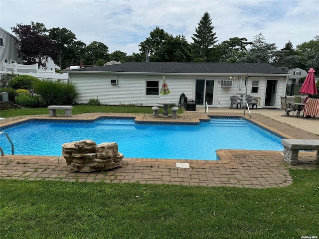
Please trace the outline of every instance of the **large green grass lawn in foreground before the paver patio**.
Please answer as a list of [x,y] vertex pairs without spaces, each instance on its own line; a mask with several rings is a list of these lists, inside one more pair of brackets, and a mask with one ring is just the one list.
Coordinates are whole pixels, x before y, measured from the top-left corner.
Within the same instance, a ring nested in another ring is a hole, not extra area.
[[1,180],[0,237],[300,239],[319,236],[319,169],[247,189]]

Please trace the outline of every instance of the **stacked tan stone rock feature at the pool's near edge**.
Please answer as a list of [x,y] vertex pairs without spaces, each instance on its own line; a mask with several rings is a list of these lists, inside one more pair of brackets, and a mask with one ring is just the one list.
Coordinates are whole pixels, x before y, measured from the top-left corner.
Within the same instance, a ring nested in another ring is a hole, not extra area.
[[96,145],[90,139],[62,144],[62,155],[70,172],[85,173],[120,167],[124,158],[117,143]]

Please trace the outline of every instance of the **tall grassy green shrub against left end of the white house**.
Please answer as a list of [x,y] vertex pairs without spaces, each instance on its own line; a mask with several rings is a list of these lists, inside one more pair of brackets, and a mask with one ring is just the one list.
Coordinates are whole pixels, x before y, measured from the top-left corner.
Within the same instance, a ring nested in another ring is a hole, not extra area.
[[47,106],[70,105],[79,95],[75,84],[72,83],[43,80],[36,82],[33,87],[35,93],[41,96]]

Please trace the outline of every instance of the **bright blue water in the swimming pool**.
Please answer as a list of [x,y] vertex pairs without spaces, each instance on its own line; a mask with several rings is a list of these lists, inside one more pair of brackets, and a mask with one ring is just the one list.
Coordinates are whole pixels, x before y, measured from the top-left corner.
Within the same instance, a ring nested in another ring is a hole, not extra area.
[[[279,136],[243,119],[211,119],[199,125],[135,124],[134,120],[38,120],[2,128],[14,143],[14,153],[61,156],[65,142],[91,139],[117,142],[125,157],[216,160],[217,149],[283,150]],[[1,135],[1,147],[11,145]]]

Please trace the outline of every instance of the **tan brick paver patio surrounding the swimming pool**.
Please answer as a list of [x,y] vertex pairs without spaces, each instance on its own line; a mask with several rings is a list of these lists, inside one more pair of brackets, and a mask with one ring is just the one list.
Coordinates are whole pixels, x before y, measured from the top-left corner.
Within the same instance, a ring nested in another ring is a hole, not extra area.
[[[1,126],[26,119],[96,119],[103,116],[136,117],[136,121],[166,122],[199,122],[200,119],[207,119],[207,115],[200,112],[185,112],[180,114],[178,119],[154,119],[152,114],[86,113],[68,118],[49,118],[46,115],[12,117],[2,121]],[[243,117],[243,114],[215,113],[210,116]],[[257,113],[253,113],[250,120],[286,138],[319,139],[318,135]],[[0,178],[269,188],[290,185],[292,178],[289,168],[318,168],[314,151],[300,152],[297,166],[284,162],[282,151],[220,149],[216,153],[219,161],[124,158],[123,165],[119,168],[91,173],[69,172],[62,156],[4,155],[0,157]],[[176,162],[187,162],[190,168],[176,168]]]

